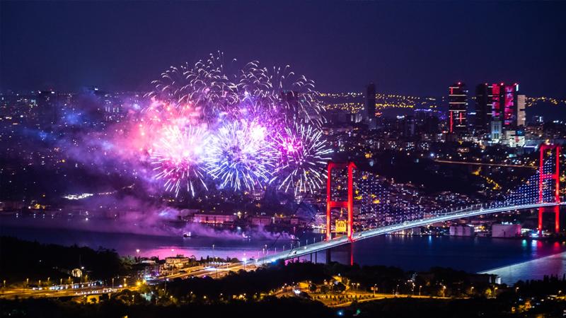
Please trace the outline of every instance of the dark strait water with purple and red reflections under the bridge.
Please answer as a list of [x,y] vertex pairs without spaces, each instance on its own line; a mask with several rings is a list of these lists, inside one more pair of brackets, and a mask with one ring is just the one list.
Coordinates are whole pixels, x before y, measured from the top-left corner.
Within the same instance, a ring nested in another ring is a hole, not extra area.
[[[61,220],[0,218],[0,235],[11,235],[25,240],[59,245],[88,246],[94,249],[105,247],[115,249],[121,255],[168,257],[176,254],[194,255],[197,258],[263,256],[289,249],[290,240],[277,235],[264,235],[252,240],[241,235],[223,232],[216,237],[199,236],[183,238],[178,233],[163,231],[129,230],[122,228],[117,220]],[[97,228],[98,231],[89,229]],[[210,233],[210,232],[209,232]],[[306,233],[301,235],[301,245],[306,240],[320,240],[322,235]],[[213,247],[214,245],[214,247]],[[350,248],[351,254],[350,254]],[[139,252],[138,252],[139,251]],[[502,239],[490,237],[429,237],[394,236],[374,237],[338,247],[332,252],[332,259],[342,263],[353,261],[361,265],[398,266],[405,270],[426,271],[432,266],[451,267],[469,272],[497,273],[504,283],[519,279],[540,279],[543,275],[566,273],[566,243],[536,240]],[[308,257],[307,259],[310,259]],[[313,260],[315,257],[313,257]],[[325,260],[325,253],[318,253],[316,259]]]

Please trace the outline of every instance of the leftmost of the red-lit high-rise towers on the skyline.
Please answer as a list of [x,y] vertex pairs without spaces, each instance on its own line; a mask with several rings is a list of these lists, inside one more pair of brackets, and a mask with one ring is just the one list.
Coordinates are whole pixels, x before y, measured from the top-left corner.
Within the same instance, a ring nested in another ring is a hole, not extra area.
[[466,131],[466,110],[468,110],[468,90],[458,82],[449,87],[448,129],[450,133]]

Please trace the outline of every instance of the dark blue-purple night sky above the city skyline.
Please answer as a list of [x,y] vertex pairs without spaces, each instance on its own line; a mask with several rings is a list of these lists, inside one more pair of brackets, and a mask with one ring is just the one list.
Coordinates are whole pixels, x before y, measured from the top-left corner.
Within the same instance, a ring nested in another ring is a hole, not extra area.
[[170,65],[290,64],[321,91],[565,97],[565,2],[0,2],[0,90],[146,90]]

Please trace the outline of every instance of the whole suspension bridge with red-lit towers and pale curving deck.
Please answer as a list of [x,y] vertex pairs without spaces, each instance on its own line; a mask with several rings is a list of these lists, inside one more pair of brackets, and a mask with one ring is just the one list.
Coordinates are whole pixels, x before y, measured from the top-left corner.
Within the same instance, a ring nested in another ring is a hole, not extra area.
[[[317,252],[329,251],[334,247],[351,244],[360,240],[365,240],[378,235],[385,235],[391,232],[408,230],[424,225],[439,223],[459,218],[470,218],[493,213],[508,211],[520,211],[538,208],[538,232],[543,231],[543,213],[550,209],[555,214],[554,231],[560,231],[560,206],[565,205],[560,198],[560,149],[558,145],[542,144],[540,146],[540,160],[536,175],[529,178],[525,184],[515,189],[511,194],[502,200],[484,204],[473,204],[462,208],[444,209],[422,213],[417,218],[403,220],[398,223],[371,228],[354,232],[353,228],[353,170],[356,165],[350,163],[328,163],[327,195],[326,195],[326,237],[325,240],[313,242],[311,244],[291,247],[281,252],[267,254],[259,257],[256,262],[260,264],[269,263],[278,259],[296,259],[306,257]],[[332,199],[332,172],[333,170],[347,170],[347,199],[345,201],[334,201]],[[333,237],[332,233],[332,210],[344,208],[347,210],[347,229],[345,235]],[[328,255],[328,253],[327,253]],[[327,256],[327,259],[329,257]]]

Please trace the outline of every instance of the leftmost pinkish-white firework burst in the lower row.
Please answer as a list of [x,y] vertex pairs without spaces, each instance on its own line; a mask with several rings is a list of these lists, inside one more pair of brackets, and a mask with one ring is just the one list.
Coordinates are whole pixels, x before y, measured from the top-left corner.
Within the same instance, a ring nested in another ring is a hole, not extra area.
[[168,126],[163,129],[161,139],[154,145],[151,163],[155,165],[156,179],[164,179],[166,191],[178,196],[181,187],[186,184],[187,191],[195,196],[195,182],[204,183],[206,171],[202,167],[203,146],[207,134],[200,127]]

